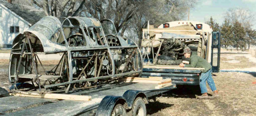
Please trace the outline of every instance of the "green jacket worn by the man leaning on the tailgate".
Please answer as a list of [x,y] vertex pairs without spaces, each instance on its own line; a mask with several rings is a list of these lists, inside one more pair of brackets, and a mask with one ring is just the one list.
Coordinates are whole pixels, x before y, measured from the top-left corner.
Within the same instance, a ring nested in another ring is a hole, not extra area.
[[191,55],[189,57],[189,64],[185,64],[185,67],[202,67],[204,68],[203,73],[212,68],[210,63],[198,55]]

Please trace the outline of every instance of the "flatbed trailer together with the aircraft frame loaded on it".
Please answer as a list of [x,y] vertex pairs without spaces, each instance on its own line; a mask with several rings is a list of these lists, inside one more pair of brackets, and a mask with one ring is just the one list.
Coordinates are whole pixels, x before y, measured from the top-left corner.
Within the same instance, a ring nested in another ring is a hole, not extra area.
[[[61,58],[49,67],[37,54]],[[141,60],[138,45],[110,20],[46,16],[13,41],[0,114],[146,115],[148,99],[176,85],[137,78]]]

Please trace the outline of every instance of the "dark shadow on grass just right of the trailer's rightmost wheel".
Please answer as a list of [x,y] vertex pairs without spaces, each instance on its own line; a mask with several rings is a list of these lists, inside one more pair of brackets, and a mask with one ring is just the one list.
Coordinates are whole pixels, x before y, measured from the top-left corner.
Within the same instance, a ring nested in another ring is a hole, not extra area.
[[159,101],[149,102],[148,104],[146,104],[147,114],[149,115],[154,114],[158,111],[161,111],[162,109],[172,107],[173,105],[174,104],[161,103]]

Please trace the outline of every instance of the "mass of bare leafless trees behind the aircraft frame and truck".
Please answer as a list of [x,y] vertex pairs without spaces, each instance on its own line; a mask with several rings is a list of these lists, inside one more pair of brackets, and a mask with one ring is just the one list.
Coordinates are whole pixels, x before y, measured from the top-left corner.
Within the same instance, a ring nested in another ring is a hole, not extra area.
[[108,18],[121,36],[137,35],[136,38],[141,38],[147,21],[159,25],[181,20],[197,0],[24,0],[23,4],[27,4],[25,1],[56,17]]

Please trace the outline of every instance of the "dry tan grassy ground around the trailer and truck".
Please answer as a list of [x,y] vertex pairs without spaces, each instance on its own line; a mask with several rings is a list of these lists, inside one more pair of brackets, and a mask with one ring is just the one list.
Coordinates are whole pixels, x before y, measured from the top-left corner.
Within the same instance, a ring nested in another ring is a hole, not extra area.
[[[221,70],[256,68],[249,54],[221,54]],[[253,58],[256,60],[256,58]],[[8,60],[0,59],[0,86],[8,88]],[[42,61],[52,66],[58,61]],[[220,97],[196,99],[198,86],[185,86],[159,95],[155,102],[146,105],[147,115],[256,115],[256,72],[213,73]],[[207,86],[208,87],[208,86]],[[212,91],[208,88],[208,94]],[[154,101],[154,100],[150,100]]]

